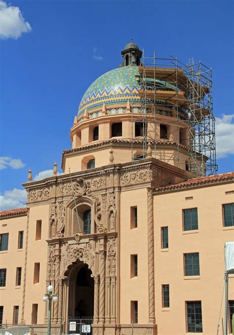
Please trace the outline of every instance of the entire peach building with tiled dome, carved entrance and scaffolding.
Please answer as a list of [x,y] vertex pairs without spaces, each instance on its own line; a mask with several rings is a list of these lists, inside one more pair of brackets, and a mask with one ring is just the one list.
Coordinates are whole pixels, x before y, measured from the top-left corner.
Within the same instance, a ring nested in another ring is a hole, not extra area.
[[27,207],[0,213],[0,321],[45,330],[52,285],[56,334],[210,335],[234,174],[214,175],[209,70],[121,55],[80,101],[64,174],[30,170]]

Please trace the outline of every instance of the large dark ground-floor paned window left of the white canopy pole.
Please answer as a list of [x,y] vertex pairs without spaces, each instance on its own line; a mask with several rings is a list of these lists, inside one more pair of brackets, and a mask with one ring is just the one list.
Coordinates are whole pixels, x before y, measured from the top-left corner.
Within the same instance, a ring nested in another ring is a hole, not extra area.
[[187,333],[202,333],[201,301],[186,301]]

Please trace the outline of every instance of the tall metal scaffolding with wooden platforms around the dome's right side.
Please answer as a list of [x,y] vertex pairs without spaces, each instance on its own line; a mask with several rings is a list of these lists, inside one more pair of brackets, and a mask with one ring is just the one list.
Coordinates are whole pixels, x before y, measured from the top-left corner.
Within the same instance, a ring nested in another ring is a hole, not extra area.
[[[157,58],[154,53],[146,57],[143,50],[138,70],[141,107],[137,110],[132,103],[132,160],[145,158],[149,143],[154,146],[153,156],[161,159],[158,147],[170,144],[176,154],[164,154],[165,160],[173,160],[175,166],[186,167],[197,176],[216,174],[211,69],[193,59],[185,65],[173,56]],[[142,154],[134,156],[138,122],[142,124]],[[167,129],[164,137],[161,123]],[[182,158],[183,150],[188,152],[188,161]]]

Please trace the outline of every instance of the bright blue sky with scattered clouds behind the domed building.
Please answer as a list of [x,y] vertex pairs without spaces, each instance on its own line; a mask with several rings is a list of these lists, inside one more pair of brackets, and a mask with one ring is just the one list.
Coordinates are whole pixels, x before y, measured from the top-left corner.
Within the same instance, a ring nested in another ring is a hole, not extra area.
[[[12,0],[0,32],[0,208],[17,207],[33,177],[60,169],[79,101],[117,68],[130,38],[146,55],[194,57],[213,69],[218,173],[234,170],[234,1]],[[10,8],[10,9],[9,9]],[[15,25],[15,27],[11,27]],[[61,169],[60,169],[61,172]]]

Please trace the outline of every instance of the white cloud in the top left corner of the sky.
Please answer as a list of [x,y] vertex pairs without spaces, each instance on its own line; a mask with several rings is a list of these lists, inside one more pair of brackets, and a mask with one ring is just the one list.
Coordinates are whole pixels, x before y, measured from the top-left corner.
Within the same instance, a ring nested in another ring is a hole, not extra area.
[[19,7],[7,5],[0,0],[0,38],[19,38],[31,32],[29,22],[25,21]]

